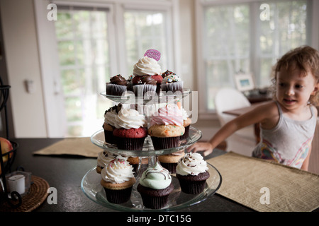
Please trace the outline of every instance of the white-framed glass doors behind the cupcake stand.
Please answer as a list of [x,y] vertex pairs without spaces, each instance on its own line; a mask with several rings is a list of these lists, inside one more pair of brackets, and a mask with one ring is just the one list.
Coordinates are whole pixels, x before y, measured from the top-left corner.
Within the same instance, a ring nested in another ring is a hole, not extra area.
[[[109,78],[128,78],[147,49],[157,49],[162,69],[174,68],[175,0],[35,1],[49,137],[91,136],[115,103],[99,93]],[[50,52],[50,54],[47,54]]]

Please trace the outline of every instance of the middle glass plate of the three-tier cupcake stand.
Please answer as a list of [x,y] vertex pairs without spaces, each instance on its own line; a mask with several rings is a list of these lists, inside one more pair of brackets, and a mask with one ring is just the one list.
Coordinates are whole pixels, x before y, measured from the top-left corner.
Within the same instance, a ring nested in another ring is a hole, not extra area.
[[112,145],[105,142],[104,138],[104,130],[97,131],[91,136],[91,142],[97,145],[99,148],[103,148],[108,150],[111,153],[118,153],[120,155],[125,156],[152,156],[152,155],[167,155],[169,153],[174,153],[179,150],[184,150],[188,148],[193,143],[196,143],[199,139],[201,139],[202,133],[200,130],[191,127],[189,128],[189,138],[184,141],[179,141],[179,147],[176,148],[167,148],[162,150],[154,150],[152,139],[150,136],[147,136],[144,141],[142,150],[121,150],[116,147],[116,145]]

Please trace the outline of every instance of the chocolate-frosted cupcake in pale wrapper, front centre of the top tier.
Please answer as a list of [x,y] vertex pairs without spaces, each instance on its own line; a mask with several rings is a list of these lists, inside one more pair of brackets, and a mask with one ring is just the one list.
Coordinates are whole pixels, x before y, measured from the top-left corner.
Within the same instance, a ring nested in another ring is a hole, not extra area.
[[151,97],[155,95],[157,81],[151,76],[138,76],[138,81],[133,85],[133,91],[137,97]]

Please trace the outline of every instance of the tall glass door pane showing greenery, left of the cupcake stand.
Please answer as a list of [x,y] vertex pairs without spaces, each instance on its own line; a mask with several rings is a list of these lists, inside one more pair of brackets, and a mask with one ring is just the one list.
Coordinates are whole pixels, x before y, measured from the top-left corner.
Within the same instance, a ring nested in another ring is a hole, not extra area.
[[96,93],[110,78],[107,14],[107,8],[59,7],[55,31],[66,136],[89,136],[103,120],[106,102]]

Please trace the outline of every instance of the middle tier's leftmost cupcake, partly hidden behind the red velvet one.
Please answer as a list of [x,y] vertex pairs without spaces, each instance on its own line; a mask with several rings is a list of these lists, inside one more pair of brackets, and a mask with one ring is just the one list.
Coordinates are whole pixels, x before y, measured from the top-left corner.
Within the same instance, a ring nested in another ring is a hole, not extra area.
[[113,130],[115,129],[115,118],[118,112],[121,110],[122,104],[114,105],[104,112],[104,138],[106,143],[116,144],[116,138],[113,136]]

